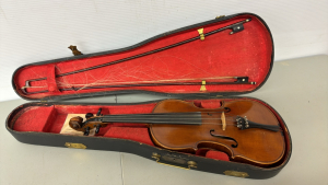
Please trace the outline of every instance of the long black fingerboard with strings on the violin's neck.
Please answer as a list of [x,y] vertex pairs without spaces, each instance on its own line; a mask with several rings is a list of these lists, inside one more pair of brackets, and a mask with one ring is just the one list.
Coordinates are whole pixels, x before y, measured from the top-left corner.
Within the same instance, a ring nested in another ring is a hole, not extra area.
[[201,113],[126,114],[97,117],[102,123],[201,125]]

